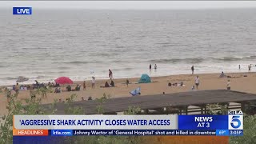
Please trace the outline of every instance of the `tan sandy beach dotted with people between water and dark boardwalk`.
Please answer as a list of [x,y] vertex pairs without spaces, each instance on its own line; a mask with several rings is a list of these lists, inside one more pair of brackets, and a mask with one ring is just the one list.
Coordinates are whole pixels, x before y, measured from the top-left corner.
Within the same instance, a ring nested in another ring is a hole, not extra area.
[[[81,101],[82,97],[86,100],[91,96],[93,99],[100,98],[102,95],[110,94],[110,98],[118,98],[118,97],[130,97],[129,92],[134,90],[138,86],[141,87],[141,96],[150,95],[150,94],[162,94],[165,92],[166,94],[170,93],[178,93],[183,91],[191,90],[191,87],[194,85],[194,79],[196,76],[200,78],[200,85],[198,86],[198,90],[217,90],[217,89],[226,89],[227,80],[230,79],[231,82],[231,90],[238,90],[247,93],[256,94],[255,84],[256,84],[256,73],[231,73],[226,74],[232,78],[219,78],[220,74],[180,74],[180,75],[170,75],[165,77],[155,77],[151,78],[151,83],[142,83],[138,84],[139,78],[130,78],[131,84],[127,87],[125,82],[126,78],[114,79],[115,87],[109,88],[101,88],[100,86],[104,86],[106,80],[97,80],[95,83],[95,89],[91,88],[91,81],[86,81],[86,90],[80,91],[66,91],[66,86],[62,86],[62,93],[55,94],[50,93],[47,95],[47,98],[43,99],[43,103],[54,102],[54,99],[62,98],[65,100],[70,97],[71,94],[77,94],[76,101]],[[247,77],[244,77],[247,75]],[[110,83],[110,80],[107,80]],[[183,82],[185,86],[168,86],[168,83],[174,82]],[[72,89],[77,84],[81,84],[82,82],[74,82],[72,85]],[[12,91],[14,93],[14,91]],[[6,114],[6,104],[7,98],[5,94],[0,93],[0,114]],[[30,98],[30,91],[20,91],[18,95],[18,99],[26,99]]]

